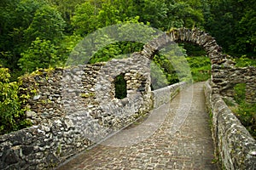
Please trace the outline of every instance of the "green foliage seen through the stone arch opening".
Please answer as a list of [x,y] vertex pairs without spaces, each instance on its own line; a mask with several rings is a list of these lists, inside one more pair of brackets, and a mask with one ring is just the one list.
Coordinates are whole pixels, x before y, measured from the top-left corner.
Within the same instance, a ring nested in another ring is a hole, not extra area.
[[177,44],[162,48],[154,55],[151,66],[151,81],[154,89],[166,87],[177,82],[191,82],[189,64],[185,50]]

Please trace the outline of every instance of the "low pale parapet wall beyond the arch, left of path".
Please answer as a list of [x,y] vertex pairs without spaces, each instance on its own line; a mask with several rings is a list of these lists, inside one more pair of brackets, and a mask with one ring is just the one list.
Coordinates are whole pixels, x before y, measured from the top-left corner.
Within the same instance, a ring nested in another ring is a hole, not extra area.
[[186,82],[178,82],[171,86],[152,91],[154,108],[159,108],[161,105],[169,103],[186,84]]

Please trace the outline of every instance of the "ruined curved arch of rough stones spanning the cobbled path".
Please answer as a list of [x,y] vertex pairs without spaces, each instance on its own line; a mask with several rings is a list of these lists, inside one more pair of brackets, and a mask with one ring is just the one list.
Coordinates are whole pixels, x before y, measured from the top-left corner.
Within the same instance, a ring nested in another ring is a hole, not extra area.
[[221,52],[222,48],[218,46],[214,37],[210,36],[207,32],[197,28],[192,30],[188,28],[173,29],[145,44],[141,53],[148,59],[153,59],[154,54],[159,51],[160,48],[173,42],[195,43],[207,52],[207,56],[211,59],[212,63],[212,90],[213,93],[219,93],[224,87],[224,82],[218,77],[225,77],[224,72],[219,71],[219,68],[221,68],[223,63],[227,65],[234,63],[232,63],[230,59],[226,59],[226,55]]

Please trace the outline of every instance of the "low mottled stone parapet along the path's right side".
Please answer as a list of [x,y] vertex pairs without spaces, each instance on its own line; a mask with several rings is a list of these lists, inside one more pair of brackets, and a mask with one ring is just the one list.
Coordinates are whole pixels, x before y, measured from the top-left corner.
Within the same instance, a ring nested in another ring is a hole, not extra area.
[[212,112],[212,137],[216,154],[226,169],[255,169],[256,141],[224,103],[220,94],[212,94],[206,83],[205,96],[208,111]]

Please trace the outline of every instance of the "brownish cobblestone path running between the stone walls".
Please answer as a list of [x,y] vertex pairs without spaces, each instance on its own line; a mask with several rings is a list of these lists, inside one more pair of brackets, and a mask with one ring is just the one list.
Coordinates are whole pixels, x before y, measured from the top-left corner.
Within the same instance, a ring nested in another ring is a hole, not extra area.
[[218,169],[203,83],[58,169]]

